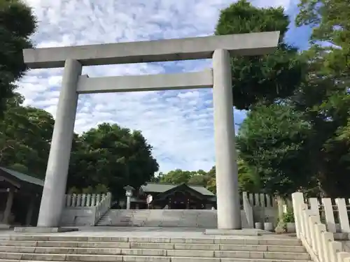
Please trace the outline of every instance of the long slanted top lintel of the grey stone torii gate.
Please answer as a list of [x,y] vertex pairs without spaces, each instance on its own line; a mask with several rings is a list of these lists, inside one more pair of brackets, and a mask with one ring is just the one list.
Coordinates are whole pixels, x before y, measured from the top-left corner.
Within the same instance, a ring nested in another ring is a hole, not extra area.
[[272,31],[62,48],[32,48],[23,50],[23,57],[29,68],[64,67],[66,59],[76,59],[83,66],[179,61],[209,59],[217,49],[228,50],[232,55],[268,54],[274,51],[278,41],[279,31]]

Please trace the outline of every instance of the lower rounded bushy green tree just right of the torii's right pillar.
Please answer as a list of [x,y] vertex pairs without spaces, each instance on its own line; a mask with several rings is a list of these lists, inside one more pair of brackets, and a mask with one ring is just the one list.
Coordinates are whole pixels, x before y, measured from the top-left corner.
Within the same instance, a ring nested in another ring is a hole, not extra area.
[[289,105],[260,105],[248,112],[237,138],[239,156],[254,168],[266,193],[288,195],[309,187],[310,131],[302,113]]

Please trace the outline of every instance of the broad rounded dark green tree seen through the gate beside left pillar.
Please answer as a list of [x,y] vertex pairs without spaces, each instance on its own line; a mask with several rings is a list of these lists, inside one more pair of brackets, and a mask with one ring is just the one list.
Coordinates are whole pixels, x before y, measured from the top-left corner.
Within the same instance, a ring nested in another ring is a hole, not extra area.
[[102,184],[113,196],[124,196],[127,184],[136,189],[158,171],[151,150],[140,131],[99,124],[74,138],[67,187],[84,189]]

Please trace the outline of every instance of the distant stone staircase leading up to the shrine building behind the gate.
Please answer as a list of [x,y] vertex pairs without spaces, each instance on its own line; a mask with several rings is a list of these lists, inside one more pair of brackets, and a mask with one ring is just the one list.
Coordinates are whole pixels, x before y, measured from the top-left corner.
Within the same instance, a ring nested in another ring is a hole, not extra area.
[[[241,211],[244,228],[248,222]],[[216,228],[216,210],[109,210],[97,226]]]

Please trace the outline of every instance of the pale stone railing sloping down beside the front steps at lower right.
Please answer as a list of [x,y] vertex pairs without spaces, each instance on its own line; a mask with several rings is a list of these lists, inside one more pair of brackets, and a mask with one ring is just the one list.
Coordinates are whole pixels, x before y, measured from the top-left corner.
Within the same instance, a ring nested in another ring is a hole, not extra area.
[[350,262],[350,253],[342,252],[342,243],[327,232],[320,217],[309,210],[300,192],[292,194],[297,238],[307,249],[314,262]]

